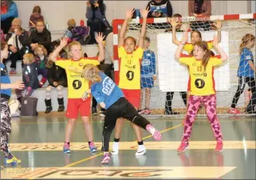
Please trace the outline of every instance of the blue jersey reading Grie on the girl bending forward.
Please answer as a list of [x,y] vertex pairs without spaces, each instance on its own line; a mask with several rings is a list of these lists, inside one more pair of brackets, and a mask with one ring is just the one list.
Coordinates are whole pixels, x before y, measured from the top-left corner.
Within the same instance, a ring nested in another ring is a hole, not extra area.
[[106,76],[103,72],[100,72],[101,81],[99,83],[92,84],[91,92],[98,104],[104,102],[106,109],[112,104],[116,103],[121,97],[124,97],[124,93],[114,83],[112,79]]

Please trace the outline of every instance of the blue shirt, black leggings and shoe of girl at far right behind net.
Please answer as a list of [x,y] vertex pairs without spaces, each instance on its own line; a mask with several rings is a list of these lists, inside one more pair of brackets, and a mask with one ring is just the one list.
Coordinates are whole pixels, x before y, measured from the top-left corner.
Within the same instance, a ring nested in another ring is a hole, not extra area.
[[[255,84],[255,72],[252,68],[250,68],[249,61],[252,61],[254,63],[254,55],[248,48],[243,48],[241,57],[240,57],[240,63],[238,67],[238,89],[237,92],[234,95],[234,98],[232,100],[231,108],[235,108],[236,104],[238,103],[239,97],[242,94],[244,88],[246,87],[246,84],[251,89],[252,97],[250,99],[250,103],[248,107],[246,108],[246,112],[255,111],[254,108],[256,106],[256,84]],[[238,110],[230,109],[230,113],[235,113]]]

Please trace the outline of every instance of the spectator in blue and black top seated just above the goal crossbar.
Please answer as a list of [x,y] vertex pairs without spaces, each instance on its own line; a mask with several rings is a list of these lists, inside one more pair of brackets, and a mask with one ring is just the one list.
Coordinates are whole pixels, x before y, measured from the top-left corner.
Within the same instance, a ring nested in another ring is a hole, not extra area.
[[165,18],[172,16],[172,7],[169,0],[152,0],[148,2],[148,18]]

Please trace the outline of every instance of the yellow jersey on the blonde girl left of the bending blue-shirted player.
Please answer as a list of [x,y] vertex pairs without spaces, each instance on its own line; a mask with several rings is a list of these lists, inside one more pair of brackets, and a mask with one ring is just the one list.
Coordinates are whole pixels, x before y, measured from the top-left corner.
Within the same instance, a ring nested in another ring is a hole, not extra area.
[[79,72],[74,72],[69,68],[77,68],[78,71],[82,70],[84,65],[93,64],[99,65],[98,57],[81,58],[79,61],[70,59],[57,58],[55,63],[61,68],[65,69],[68,80],[68,98],[77,99],[89,89],[89,81],[81,77]]

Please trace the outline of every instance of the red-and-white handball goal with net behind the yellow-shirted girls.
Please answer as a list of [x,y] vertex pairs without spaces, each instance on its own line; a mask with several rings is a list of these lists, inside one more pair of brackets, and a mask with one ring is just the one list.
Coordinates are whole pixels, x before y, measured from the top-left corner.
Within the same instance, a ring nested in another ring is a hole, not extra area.
[[[238,66],[240,63],[240,47],[242,37],[246,33],[255,36],[255,14],[230,14],[211,16],[207,18],[183,17],[181,18],[182,28],[190,25],[190,33],[197,29],[202,34],[203,41],[212,41],[213,36],[217,33],[214,25],[216,20],[221,20],[221,42],[219,45],[224,49],[228,55],[228,61],[215,68],[215,90],[217,98],[217,112],[219,115],[234,114],[234,110],[230,111],[232,100],[235,92],[238,89]],[[113,44],[114,44],[114,67],[115,67],[115,80],[119,81],[119,64],[117,54],[118,33],[124,20],[113,21]],[[132,19],[128,25],[126,36],[134,37],[136,40],[140,36],[142,19]],[[176,32],[176,37],[180,41],[183,32]],[[149,109],[151,115],[175,115],[179,112],[180,115],[185,115],[187,106],[185,105],[187,99],[187,83],[189,73],[187,66],[180,65],[179,61],[175,60],[174,54],[177,46],[172,43],[171,24],[167,22],[167,18],[148,18],[147,20],[147,33],[146,37],[150,39],[148,49],[156,55],[156,80],[154,86],[150,91]],[[188,42],[190,42],[190,38]],[[211,49],[212,53],[217,55],[215,49]],[[251,49],[255,56],[255,47]],[[183,52],[187,53],[187,52]],[[147,51],[144,53],[142,60],[142,69],[144,65],[150,66],[152,61],[152,53]],[[255,63],[255,62],[254,62]],[[254,64],[255,65],[255,64]],[[144,73],[144,72],[142,72]],[[143,76],[142,76],[143,78]],[[200,83],[200,82],[199,82]],[[141,80],[144,88],[151,87],[152,80]],[[141,96],[141,109],[145,108],[145,96],[148,91],[142,88],[144,96]],[[251,92],[248,84],[246,84],[244,91],[238,99],[236,104],[237,114],[246,115],[246,106],[250,103]],[[148,98],[147,98],[148,99]],[[147,114],[147,112],[145,112]],[[204,105],[202,104],[198,112],[199,115],[206,115]]]

